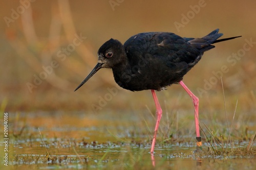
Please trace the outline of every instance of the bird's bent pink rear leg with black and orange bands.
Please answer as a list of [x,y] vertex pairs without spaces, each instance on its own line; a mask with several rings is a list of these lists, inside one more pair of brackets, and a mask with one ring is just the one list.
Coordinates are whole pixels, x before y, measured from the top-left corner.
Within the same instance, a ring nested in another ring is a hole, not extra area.
[[201,147],[202,142],[201,142],[201,137],[200,137],[200,132],[199,132],[199,117],[198,117],[199,116],[199,114],[198,114],[199,99],[197,98],[197,96],[195,94],[193,94],[187,88],[187,86],[182,81],[180,81],[179,83],[184,88],[184,90],[188,93],[188,95],[190,96],[190,98],[193,101],[194,109],[195,109],[195,124],[196,124],[197,145],[198,145],[198,147]]

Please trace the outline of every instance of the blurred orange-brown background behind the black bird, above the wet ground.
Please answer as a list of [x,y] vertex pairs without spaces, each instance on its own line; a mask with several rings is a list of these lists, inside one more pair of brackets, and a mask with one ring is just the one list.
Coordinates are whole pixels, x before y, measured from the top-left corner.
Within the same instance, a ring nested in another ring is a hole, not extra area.
[[[117,88],[101,69],[74,89],[97,63],[110,38],[122,43],[141,32],[202,37],[219,28],[222,38],[184,77],[200,110],[241,114],[256,109],[255,1],[0,1],[0,100],[6,111],[154,111],[151,92]],[[220,76],[223,80],[223,89]],[[115,92],[111,91],[114,90]],[[164,110],[193,109],[180,85],[158,92]],[[191,115],[192,116],[192,115]]]

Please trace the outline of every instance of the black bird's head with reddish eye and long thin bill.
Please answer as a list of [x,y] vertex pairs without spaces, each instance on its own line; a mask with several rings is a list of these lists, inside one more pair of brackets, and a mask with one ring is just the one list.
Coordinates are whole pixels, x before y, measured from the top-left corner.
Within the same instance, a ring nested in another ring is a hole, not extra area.
[[112,38],[106,41],[98,50],[98,63],[75,91],[86,83],[100,68],[113,68],[122,62],[124,56],[126,56],[126,53],[120,41]]

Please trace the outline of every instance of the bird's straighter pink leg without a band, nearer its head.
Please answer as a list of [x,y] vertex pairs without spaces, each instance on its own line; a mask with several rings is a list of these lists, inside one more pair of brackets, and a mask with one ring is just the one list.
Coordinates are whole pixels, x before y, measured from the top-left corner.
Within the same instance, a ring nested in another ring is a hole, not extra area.
[[161,106],[158,102],[155,90],[151,90],[151,92],[152,92],[152,95],[153,95],[153,99],[155,101],[156,114],[157,114],[157,122],[156,122],[156,126],[155,126],[154,137],[153,137],[153,140],[152,140],[151,150],[150,150],[151,153],[154,153],[154,148],[155,148],[155,144],[156,144],[156,137],[157,137],[157,130],[158,130],[158,127],[159,127],[160,119],[162,117],[162,109],[161,109]]

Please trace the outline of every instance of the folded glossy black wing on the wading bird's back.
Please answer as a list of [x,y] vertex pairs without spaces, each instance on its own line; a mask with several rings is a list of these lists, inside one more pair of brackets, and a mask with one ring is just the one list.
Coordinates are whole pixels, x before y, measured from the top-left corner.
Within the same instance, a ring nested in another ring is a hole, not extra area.
[[150,58],[164,61],[170,67],[179,65],[179,63],[182,66],[184,66],[184,63],[193,65],[200,60],[199,56],[201,58],[200,51],[197,48],[174,33],[151,32],[137,34],[124,43],[124,48],[130,61],[136,62],[134,57],[137,60],[139,60],[138,57]]

